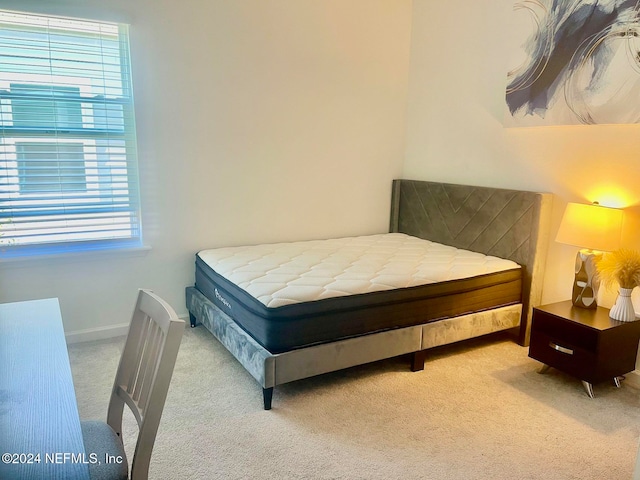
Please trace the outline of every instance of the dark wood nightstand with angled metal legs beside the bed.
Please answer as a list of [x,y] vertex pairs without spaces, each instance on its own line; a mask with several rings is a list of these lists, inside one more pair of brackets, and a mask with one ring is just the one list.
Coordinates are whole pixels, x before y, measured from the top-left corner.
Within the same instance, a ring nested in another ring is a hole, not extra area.
[[609,309],[574,307],[571,301],[533,309],[529,356],[582,380],[593,398],[593,384],[613,380],[635,369],[640,321],[618,322]]

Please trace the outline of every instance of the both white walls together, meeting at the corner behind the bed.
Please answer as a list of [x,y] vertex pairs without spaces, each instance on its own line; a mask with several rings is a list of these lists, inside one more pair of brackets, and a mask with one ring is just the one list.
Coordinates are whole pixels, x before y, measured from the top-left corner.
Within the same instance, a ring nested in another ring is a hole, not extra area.
[[[639,126],[503,127],[511,5],[0,0],[131,23],[152,247],[0,262],[0,302],[59,297],[68,332],[126,323],[138,287],[184,314],[197,250],[385,231],[398,176],[552,192],[552,235],[615,187],[640,246]],[[551,239],[543,301],[575,251]]]

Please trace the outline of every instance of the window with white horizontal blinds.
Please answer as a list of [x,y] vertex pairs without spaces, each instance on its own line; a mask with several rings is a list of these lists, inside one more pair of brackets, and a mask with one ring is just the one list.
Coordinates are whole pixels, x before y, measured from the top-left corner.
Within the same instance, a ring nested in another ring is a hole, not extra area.
[[126,25],[0,11],[0,255],[140,246]]

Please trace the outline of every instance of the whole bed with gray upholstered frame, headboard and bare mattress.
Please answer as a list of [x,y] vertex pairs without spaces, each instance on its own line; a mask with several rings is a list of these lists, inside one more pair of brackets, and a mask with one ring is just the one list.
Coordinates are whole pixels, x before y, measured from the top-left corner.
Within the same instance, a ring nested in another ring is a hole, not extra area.
[[512,330],[539,304],[550,194],[394,180],[389,233],[202,250],[187,287],[202,323],[273,389]]

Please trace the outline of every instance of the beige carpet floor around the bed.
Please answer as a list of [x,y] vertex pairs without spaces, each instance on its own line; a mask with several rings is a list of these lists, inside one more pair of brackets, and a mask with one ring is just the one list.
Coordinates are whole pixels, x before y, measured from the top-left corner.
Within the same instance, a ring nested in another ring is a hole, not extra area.
[[[82,419],[105,419],[123,338],[71,345]],[[630,479],[640,391],[537,373],[505,336],[260,386],[202,326],[187,327],[151,479]],[[133,448],[134,421],[126,417]]]

